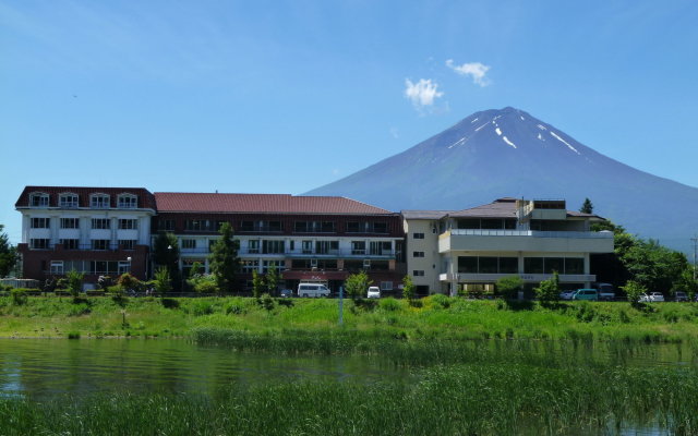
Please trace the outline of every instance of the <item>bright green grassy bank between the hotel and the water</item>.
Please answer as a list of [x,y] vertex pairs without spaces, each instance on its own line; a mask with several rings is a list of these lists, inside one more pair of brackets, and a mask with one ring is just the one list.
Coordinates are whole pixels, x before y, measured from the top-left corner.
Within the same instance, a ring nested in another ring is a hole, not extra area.
[[[564,339],[681,342],[698,338],[698,304],[538,303],[472,301],[432,295],[410,304],[381,299],[0,298],[0,337],[344,338],[397,342],[473,339]],[[237,339],[238,343],[240,341]],[[342,339],[342,340],[344,340]],[[322,340],[317,343],[324,343]],[[323,346],[324,347],[324,346]]]

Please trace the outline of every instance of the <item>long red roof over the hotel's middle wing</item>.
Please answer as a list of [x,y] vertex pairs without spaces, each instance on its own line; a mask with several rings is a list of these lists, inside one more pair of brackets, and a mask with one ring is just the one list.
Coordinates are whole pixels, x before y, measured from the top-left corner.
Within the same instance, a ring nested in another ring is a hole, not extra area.
[[361,214],[392,211],[346,197],[293,196],[289,194],[217,194],[156,192],[158,211],[254,214]]

